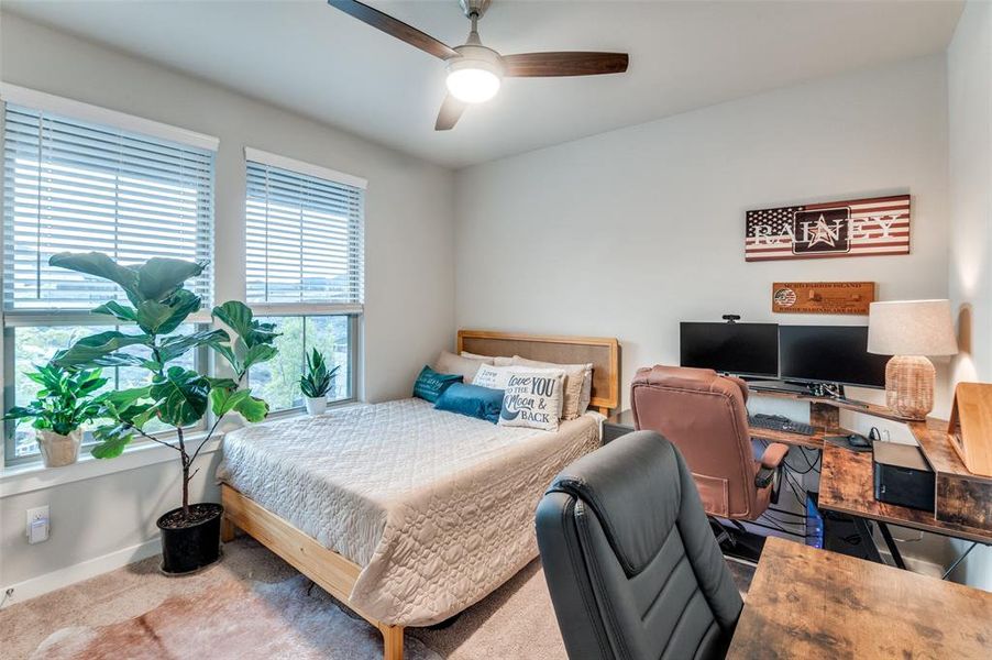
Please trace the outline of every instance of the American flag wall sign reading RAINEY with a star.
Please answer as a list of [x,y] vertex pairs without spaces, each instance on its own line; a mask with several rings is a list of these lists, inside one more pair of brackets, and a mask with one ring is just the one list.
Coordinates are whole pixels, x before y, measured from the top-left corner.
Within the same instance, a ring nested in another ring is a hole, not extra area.
[[749,262],[908,253],[908,195],[747,212]]

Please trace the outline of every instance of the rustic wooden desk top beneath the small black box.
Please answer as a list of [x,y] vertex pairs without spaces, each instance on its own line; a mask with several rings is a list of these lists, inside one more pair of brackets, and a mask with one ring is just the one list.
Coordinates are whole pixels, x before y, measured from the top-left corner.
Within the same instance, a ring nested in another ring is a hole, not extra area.
[[992,531],[937,520],[933,512],[896,506],[874,497],[871,452],[855,452],[827,442],[824,444],[819,476],[819,507],[872,518],[902,527],[943,534],[959,539],[992,542]]

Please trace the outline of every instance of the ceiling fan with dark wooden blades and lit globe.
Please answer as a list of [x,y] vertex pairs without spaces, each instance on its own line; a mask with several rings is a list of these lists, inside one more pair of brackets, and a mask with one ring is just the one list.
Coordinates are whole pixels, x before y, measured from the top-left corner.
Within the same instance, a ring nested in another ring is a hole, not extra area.
[[436,131],[454,128],[470,103],[481,103],[496,96],[504,77],[536,78],[558,76],[596,76],[622,74],[627,70],[627,53],[521,53],[500,55],[482,45],[476,30],[492,0],[459,0],[472,22],[469,38],[461,46],[448,46],[403,21],[354,0],[328,0],[363,23],[405,41],[448,63],[448,96],[441,103]]

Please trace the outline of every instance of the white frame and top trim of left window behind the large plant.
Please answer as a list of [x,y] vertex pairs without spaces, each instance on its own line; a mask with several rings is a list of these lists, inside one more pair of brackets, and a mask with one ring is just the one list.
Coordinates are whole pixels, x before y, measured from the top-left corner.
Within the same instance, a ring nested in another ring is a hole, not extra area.
[[[126,131],[131,133],[141,133],[144,135],[148,135],[152,138],[157,138],[159,140],[177,142],[180,144],[185,144],[188,146],[203,148],[212,152],[217,152],[220,145],[220,140],[218,138],[207,135],[203,133],[198,133],[195,131],[189,131],[187,129],[181,129],[178,127],[173,127],[166,123],[157,122],[150,119],[144,119],[140,117],[134,117],[131,114],[126,114],[124,112],[119,112],[117,110],[110,110],[108,108],[102,108],[99,106],[92,106],[89,103],[84,103],[81,101],[76,101],[73,99],[66,99],[63,97],[45,94],[42,91],[36,91],[33,89],[29,89],[25,87],[20,87],[16,85],[10,85],[7,82],[0,82],[0,127],[4,125],[5,122],[5,107],[7,103],[13,103],[15,106],[27,107],[34,110],[41,110],[43,112],[51,112],[54,114],[65,116],[75,120],[103,124],[110,128],[119,129],[121,131]],[[5,136],[5,127],[3,131],[0,131],[0,136]],[[2,148],[2,140],[0,140],[0,148]],[[216,156],[214,156],[214,176],[216,176]],[[3,178],[3,168],[0,168],[0,185],[2,185]],[[211,183],[211,187],[214,194],[214,202],[216,202],[216,179]],[[2,205],[4,204],[3,196],[0,195],[0,217],[2,213]],[[216,205],[212,205],[216,206]],[[216,233],[216,211],[214,218],[212,220]],[[0,241],[3,240],[3,232],[0,232]],[[2,248],[2,245],[0,245]],[[0,254],[3,251],[0,250]],[[217,274],[217,268],[213,270],[214,278]],[[2,270],[0,270],[0,277],[2,277]],[[213,284],[213,283],[211,283]],[[211,285],[211,289],[214,288]],[[2,290],[2,287],[0,287]],[[211,322],[210,314],[208,310],[201,310],[200,312],[190,315],[187,320],[189,323],[195,324],[206,324]],[[85,310],[52,310],[52,311],[41,311],[41,310],[5,310],[3,306],[0,305],[0,378],[2,378],[3,392],[4,395],[2,397],[2,408],[5,410],[13,399],[13,387],[14,384],[12,382],[12,373],[14,369],[13,364],[13,351],[12,346],[9,345],[9,337],[12,336],[13,331],[18,327],[30,327],[30,326],[119,326],[119,322],[115,322],[106,317],[100,317],[97,315],[89,314]],[[209,352],[206,350],[198,351],[196,355],[196,360],[205,367],[207,373],[212,373],[213,365],[210,363]],[[211,420],[205,419],[205,428],[206,425]],[[199,429],[199,427],[196,427]],[[196,432],[196,431],[195,431]],[[141,443],[150,442],[150,441],[141,441]],[[135,441],[137,444],[139,441]],[[13,455],[13,441],[11,438],[8,438],[7,429],[3,429],[3,451],[0,452],[0,459],[2,459],[2,465],[24,465],[31,463],[40,463],[41,455],[32,454],[29,457],[14,457]]]

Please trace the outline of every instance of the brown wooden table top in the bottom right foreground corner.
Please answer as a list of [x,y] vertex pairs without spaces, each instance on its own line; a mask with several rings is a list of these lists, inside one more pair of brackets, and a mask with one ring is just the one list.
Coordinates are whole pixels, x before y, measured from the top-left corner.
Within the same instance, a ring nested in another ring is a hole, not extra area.
[[992,658],[992,593],[770,537],[727,658]]

